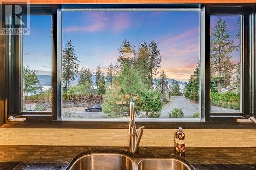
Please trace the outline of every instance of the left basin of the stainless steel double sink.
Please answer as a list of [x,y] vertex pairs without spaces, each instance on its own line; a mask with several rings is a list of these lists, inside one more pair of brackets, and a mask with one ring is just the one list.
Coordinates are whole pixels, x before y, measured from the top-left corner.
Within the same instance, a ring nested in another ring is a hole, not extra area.
[[131,159],[122,154],[88,154],[78,158],[70,165],[70,170],[132,170]]

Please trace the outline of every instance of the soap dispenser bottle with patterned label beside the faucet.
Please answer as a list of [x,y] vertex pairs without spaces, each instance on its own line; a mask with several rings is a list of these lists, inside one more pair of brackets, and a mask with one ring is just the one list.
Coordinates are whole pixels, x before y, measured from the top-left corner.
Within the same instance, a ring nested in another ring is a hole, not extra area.
[[179,129],[174,134],[174,147],[177,152],[185,152],[185,134],[182,132],[182,128]]

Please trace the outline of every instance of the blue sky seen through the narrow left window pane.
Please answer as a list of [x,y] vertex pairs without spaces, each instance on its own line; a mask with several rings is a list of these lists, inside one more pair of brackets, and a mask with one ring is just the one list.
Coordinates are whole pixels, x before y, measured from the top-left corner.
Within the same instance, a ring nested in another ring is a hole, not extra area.
[[52,68],[52,17],[30,16],[30,35],[23,36],[23,65],[50,74]]

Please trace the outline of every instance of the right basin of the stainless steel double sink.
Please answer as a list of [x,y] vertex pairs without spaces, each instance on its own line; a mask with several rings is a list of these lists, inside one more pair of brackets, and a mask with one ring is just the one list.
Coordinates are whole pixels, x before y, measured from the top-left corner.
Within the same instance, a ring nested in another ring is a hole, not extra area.
[[139,162],[138,170],[192,170],[178,159],[144,159]]

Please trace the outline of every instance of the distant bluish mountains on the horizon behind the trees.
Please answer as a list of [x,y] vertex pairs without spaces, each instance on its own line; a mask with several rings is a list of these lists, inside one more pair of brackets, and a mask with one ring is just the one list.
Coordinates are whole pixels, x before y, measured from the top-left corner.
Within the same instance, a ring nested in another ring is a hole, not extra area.
[[[51,86],[52,85],[52,83],[51,83],[52,82],[52,76],[51,75],[37,75],[37,77],[38,77],[42,86]],[[76,76],[75,80],[70,81],[70,85],[71,86],[76,85],[78,83],[78,79],[79,79],[79,76]],[[96,76],[93,75],[92,76],[93,84],[95,83],[95,80],[96,80]],[[174,79],[167,78],[168,84],[172,83],[173,80]],[[174,80],[174,81],[176,81],[176,80]],[[155,81],[153,81],[153,82],[155,83]],[[182,84],[182,85],[184,84],[184,82],[181,82],[181,81],[178,81],[178,80],[177,80],[177,82],[179,84]]]

